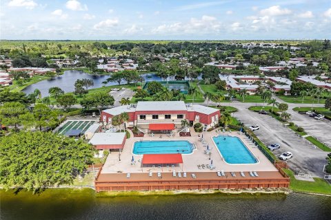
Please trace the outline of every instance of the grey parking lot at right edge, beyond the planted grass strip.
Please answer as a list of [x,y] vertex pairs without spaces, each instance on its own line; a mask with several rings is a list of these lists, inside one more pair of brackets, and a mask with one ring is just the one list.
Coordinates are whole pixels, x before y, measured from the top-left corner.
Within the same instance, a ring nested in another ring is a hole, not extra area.
[[316,120],[309,115],[298,113],[289,109],[288,111],[292,115],[292,121],[298,126],[303,127],[305,131],[319,139],[320,142],[325,142],[331,146],[331,121],[328,119]]

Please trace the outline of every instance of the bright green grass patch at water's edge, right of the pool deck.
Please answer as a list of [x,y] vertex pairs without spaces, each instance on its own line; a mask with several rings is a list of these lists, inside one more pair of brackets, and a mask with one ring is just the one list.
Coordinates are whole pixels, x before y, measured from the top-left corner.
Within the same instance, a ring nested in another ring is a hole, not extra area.
[[331,195],[331,184],[325,179],[314,178],[315,181],[303,181],[294,178],[292,170],[284,169],[285,173],[290,176],[290,189],[296,192],[312,192]]

